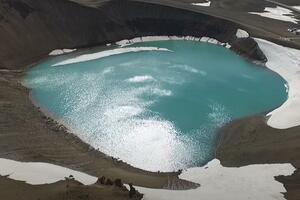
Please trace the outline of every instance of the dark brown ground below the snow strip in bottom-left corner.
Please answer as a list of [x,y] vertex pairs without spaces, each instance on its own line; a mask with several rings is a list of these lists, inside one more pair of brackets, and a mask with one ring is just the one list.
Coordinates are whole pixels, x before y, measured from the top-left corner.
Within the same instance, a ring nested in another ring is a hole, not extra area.
[[5,200],[140,200],[130,197],[124,188],[106,185],[82,185],[76,180],[58,181],[45,185],[30,185],[0,176],[0,198]]

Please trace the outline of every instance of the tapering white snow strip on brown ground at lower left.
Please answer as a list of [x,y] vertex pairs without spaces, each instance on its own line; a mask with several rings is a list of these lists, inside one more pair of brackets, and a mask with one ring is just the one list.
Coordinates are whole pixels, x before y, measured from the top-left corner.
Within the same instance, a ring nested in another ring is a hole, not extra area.
[[96,177],[58,165],[41,162],[18,162],[4,158],[0,158],[0,175],[9,175],[11,179],[26,181],[32,185],[55,183],[70,175],[85,185],[97,181]]

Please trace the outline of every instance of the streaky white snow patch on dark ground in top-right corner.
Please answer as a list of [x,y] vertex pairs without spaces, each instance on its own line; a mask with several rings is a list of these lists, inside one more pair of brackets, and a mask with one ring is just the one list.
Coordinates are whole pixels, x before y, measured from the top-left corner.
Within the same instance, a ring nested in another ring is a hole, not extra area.
[[276,8],[266,7],[263,13],[259,12],[249,12],[250,14],[260,15],[262,17],[277,19],[286,22],[292,22],[297,24],[299,22],[298,19],[295,18],[293,11],[277,6]]

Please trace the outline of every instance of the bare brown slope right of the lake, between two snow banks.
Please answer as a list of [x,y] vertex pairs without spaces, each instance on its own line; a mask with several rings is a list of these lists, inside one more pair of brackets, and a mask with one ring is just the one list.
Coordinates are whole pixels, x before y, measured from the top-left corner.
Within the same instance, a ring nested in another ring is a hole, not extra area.
[[300,127],[285,130],[269,127],[263,116],[234,121],[221,131],[216,157],[222,165],[240,167],[250,164],[291,163],[298,169],[292,176],[279,176],[288,200],[300,195]]

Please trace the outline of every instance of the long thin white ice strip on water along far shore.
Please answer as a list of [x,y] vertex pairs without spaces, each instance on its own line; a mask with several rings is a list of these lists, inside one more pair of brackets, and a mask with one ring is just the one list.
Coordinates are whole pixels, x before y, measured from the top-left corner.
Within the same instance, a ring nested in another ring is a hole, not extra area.
[[60,65],[67,65],[67,64],[73,64],[73,63],[79,63],[79,62],[85,62],[89,60],[96,60],[99,58],[104,58],[108,56],[123,54],[123,53],[130,53],[130,52],[139,52],[139,51],[170,51],[166,48],[158,48],[158,47],[128,47],[128,48],[117,48],[107,51],[101,51],[97,53],[91,53],[91,54],[83,54],[80,56],[77,56],[75,58],[66,59],[62,62],[58,62],[52,66],[60,66]]

